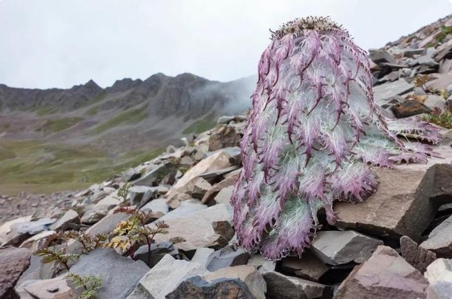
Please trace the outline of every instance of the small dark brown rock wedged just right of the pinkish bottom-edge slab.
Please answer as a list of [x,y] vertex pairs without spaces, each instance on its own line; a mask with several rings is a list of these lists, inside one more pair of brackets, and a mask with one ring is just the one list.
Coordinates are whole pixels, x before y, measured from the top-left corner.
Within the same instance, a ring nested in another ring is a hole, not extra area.
[[418,247],[417,243],[407,236],[400,238],[400,251],[405,261],[421,273],[424,273],[427,266],[436,259],[434,252]]

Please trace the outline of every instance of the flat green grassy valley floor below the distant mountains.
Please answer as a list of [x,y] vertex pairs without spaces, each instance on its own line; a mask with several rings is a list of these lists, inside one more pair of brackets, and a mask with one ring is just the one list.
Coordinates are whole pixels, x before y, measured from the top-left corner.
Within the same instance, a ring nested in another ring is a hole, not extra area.
[[163,152],[150,149],[109,158],[90,147],[0,140],[0,193],[51,193],[85,188]]

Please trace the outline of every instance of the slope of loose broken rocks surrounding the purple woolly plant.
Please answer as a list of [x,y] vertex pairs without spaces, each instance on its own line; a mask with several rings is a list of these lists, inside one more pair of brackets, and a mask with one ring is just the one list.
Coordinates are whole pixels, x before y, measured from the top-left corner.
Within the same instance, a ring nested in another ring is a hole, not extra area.
[[[452,26],[452,18],[370,51],[375,100],[387,115],[447,119],[452,35],[438,38],[441,25]],[[424,75],[429,80],[420,81]],[[23,217],[0,226],[0,298],[77,298],[84,287],[64,264],[102,278],[97,298],[452,298],[452,130],[441,131],[434,146],[441,157],[428,164],[375,169],[377,192],[362,203],[336,203],[338,221],[323,223],[303,256],[267,261],[238,247],[232,228],[245,120],[222,117],[183,147],[62,196],[48,213],[29,215],[34,203],[21,202]],[[133,225],[166,233],[139,247],[128,239]],[[47,247],[56,257],[31,254]]]

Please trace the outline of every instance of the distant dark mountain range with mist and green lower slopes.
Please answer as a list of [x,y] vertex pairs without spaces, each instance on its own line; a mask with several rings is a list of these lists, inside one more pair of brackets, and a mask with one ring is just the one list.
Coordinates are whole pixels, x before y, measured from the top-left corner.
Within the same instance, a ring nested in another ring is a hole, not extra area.
[[0,193],[106,179],[212,128],[220,115],[246,110],[254,83],[158,73],[105,89],[93,80],[70,89],[0,84]]

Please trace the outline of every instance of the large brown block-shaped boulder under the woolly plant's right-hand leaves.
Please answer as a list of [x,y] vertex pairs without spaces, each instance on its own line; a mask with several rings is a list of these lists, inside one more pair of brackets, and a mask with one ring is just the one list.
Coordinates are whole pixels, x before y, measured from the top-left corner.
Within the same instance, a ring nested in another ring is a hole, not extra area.
[[[442,151],[442,147],[437,148]],[[449,159],[450,152],[450,150],[444,152],[443,157]],[[435,164],[438,161],[441,159],[432,158],[429,164],[375,169],[380,181],[377,192],[362,203],[335,203],[334,210],[338,213],[335,225],[368,235],[392,239],[407,235],[411,239],[418,240],[434,219],[438,209],[436,203],[429,201],[429,191],[438,179],[435,175]],[[444,159],[441,162],[443,163]],[[447,176],[452,178],[452,174]]]

